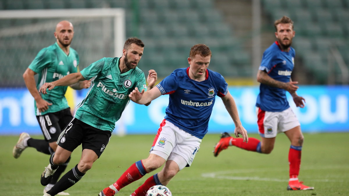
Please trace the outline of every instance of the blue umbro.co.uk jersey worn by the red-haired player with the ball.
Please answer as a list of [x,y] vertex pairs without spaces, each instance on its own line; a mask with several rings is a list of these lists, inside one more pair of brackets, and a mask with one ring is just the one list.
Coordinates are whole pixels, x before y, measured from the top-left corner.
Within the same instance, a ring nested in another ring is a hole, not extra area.
[[208,131],[215,97],[227,95],[228,84],[221,74],[209,69],[201,82],[192,80],[188,71],[189,67],[176,69],[156,86],[162,95],[169,94],[165,119],[202,139]]

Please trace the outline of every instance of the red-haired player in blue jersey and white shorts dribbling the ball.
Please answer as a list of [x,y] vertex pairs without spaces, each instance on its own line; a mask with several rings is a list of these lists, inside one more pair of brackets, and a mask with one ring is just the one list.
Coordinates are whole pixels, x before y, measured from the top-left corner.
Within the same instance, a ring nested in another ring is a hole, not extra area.
[[113,196],[121,188],[165,163],[161,172],[148,178],[132,193],[132,196],[144,196],[150,187],[167,185],[181,169],[189,167],[208,131],[216,96],[222,98],[235,123],[236,137],[241,134],[243,141],[248,141],[247,131],[240,122],[228,84],[221,74],[207,69],[210,59],[209,47],[204,44],[194,45],[188,58],[190,67],[174,70],[156,85],[157,88],[147,92],[139,92],[137,88],[133,90],[129,97],[138,104],[169,94],[166,116],[157,131],[149,157],[134,163],[115,183],[103,189],[99,196]]

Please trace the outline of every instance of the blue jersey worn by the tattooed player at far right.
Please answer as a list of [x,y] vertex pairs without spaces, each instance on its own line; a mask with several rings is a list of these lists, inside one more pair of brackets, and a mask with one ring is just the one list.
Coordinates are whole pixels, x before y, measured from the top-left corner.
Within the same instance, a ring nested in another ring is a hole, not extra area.
[[[282,51],[279,43],[275,42],[263,53],[259,70],[266,71],[274,80],[290,82],[294,65],[295,50],[290,47],[289,52]],[[262,83],[259,89],[256,106],[261,110],[281,112],[290,107],[286,99],[286,90]]]

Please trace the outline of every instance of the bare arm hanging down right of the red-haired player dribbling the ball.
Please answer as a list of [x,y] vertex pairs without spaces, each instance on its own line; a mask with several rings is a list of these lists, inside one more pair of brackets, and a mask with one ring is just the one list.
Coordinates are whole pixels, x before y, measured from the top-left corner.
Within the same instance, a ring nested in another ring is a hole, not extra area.
[[243,142],[248,142],[248,136],[247,136],[247,131],[246,129],[242,126],[239,114],[238,114],[238,109],[235,104],[234,98],[231,96],[230,92],[228,91],[227,95],[222,97],[223,104],[225,108],[227,109],[231,119],[233,119],[234,124],[235,124],[235,136],[239,137],[238,134],[242,135],[243,137]]

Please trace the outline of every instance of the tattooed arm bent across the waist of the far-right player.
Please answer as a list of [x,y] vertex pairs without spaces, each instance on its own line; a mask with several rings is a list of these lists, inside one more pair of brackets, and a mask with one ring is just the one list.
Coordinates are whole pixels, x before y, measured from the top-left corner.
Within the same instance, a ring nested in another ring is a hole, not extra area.
[[258,70],[257,73],[257,81],[262,84],[266,84],[269,86],[277,87],[280,89],[287,90],[291,94],[296,92],[298,89],[298,86],[295,84],[298,84],[298,82],[280,82],[275,80],[274,78],[270,77],[265,70]]

